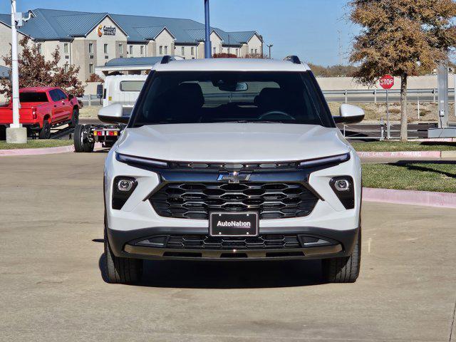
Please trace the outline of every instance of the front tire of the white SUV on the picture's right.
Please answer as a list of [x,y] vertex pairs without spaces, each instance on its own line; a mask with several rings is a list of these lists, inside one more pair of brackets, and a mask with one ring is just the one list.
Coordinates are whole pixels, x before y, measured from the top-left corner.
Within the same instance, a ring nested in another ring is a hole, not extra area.
[[328,283],[354,283],[361,266],[361,228],[350,257],[323,259],[323,277]]

